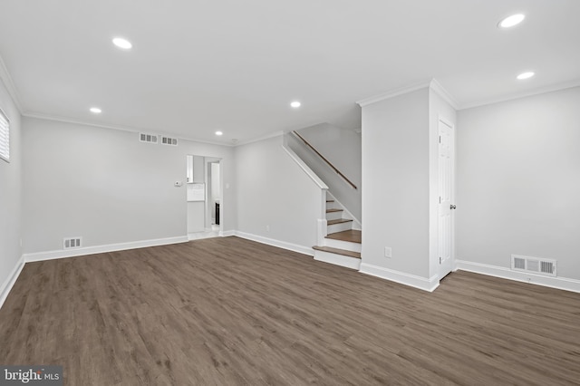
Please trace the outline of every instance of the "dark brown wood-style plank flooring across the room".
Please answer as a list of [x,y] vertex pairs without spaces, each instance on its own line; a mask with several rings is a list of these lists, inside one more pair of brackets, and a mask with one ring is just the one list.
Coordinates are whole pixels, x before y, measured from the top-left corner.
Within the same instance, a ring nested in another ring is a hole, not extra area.
[[29,263],[0,363],[66,385],[580,382],[580,294],[450,274],[434,293],[237,237]]

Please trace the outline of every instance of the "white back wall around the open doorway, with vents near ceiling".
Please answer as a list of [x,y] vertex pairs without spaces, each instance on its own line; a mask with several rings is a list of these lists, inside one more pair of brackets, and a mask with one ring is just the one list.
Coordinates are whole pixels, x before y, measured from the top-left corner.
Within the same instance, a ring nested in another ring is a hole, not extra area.
[[[138,134],[25,118],[24,253],[187,235],[186,155],[224,159],[229,147],[180,140],[178,147],[141,143]],[[175,181],[183,181],[175,188]],[[224,230],[236,227],[235,192],[226,190]]]

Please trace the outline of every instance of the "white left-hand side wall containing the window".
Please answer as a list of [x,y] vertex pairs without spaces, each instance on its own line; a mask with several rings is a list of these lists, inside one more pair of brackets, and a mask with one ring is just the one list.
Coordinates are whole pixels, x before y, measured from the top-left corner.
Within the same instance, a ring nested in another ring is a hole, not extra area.
[[0,305],[22,256],[21,235],[21,118],[0,81],[0,108],[10,120],[10,163],[0,159]]

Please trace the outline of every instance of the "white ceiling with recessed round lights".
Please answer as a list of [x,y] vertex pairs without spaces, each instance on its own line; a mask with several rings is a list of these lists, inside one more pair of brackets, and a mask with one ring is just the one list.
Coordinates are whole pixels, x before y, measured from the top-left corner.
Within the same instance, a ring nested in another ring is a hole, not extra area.
[[24,115],[229,144],[358,129],[355,101],[431,78],[459,108],[580,84],[579,16],[578,0],[2,0],[0,56]]

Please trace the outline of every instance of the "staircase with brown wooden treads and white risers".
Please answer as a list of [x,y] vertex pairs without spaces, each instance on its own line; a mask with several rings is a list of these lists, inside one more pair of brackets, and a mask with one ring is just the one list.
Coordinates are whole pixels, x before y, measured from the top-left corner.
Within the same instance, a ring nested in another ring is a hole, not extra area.
[[332,195],[326,195],[327,234],[322,246],[313,246],[314,260],[358,270],[361,267],[361,231]]

